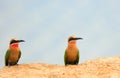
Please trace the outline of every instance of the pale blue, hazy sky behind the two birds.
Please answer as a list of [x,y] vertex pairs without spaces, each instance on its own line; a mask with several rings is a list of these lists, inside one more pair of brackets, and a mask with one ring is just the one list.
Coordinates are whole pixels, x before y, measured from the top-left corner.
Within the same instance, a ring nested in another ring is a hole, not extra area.
[[19,64],[64,65],[69,36],[80,61],[120,55],[120,0],[0,0],[0,68],[11,38],[20,43]]

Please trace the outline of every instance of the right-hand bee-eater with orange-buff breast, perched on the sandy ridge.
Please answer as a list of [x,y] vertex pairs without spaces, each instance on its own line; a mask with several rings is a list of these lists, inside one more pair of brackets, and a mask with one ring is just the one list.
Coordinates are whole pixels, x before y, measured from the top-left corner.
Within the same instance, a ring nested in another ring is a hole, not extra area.
[[79,62],[79,49],[76,45],[76,40],[83,38],[78,38],[75,36],[70,36],[68,38],[68,46],[64,53],[64,64],[67,65],[77,65]]

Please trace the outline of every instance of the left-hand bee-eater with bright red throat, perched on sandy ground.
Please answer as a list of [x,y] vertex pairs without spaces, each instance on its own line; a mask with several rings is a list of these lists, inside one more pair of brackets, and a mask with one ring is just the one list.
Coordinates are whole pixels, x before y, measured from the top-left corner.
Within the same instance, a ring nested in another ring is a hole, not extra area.
[[5,66],[17,65],[21,57],[21,50],[19,48],[20,42],[25,42],[25,41],[19,40],[17,38],[13,38],[10,40],[9,49],[6,51],[5,54]]

